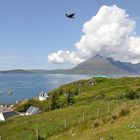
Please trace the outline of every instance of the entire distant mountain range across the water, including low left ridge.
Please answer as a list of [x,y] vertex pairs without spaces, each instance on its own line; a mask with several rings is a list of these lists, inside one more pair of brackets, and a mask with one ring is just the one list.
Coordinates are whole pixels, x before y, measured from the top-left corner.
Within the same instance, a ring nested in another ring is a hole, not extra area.
[[140,64],[115,61],[113,58],[104,58],[96,55],[87,61],[78,64],[71,69],[56,70],[9,70],[0,73],[33,73],[33,74],[98,74],[98,75],[117,75],[117,74],[140,74]]

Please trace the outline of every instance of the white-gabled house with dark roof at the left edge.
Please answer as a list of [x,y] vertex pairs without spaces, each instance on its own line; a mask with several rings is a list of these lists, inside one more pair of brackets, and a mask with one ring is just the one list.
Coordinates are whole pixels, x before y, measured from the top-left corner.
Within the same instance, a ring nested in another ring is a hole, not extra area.
[[17,116],[18,114],[14,111],[0,112],[0,121],[5,121],[11,117]]

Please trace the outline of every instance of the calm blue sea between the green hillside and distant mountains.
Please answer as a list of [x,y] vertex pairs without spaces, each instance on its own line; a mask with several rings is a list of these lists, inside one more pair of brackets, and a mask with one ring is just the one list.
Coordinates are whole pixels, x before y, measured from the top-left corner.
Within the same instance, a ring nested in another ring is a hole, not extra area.
[[[90,75],[0,74],[0,104],[15,103],[48,92],[62,84],[90,78]],[[12,91],[12,96],[7,94]]]

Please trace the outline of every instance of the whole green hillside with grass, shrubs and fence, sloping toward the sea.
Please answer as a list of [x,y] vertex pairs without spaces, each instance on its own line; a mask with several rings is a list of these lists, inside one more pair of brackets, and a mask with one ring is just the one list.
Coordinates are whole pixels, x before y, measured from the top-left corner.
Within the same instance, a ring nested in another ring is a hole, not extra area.
[[[92,78],[62,85],[48,101],[36,99],[15,108],[39,106],[43,113],[0,122],[4,140],[140,139],[140,78]],[[133,129],[133,127],[135,127]]]

